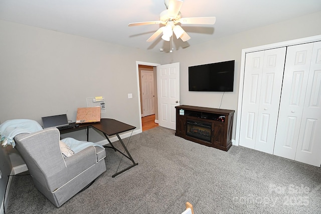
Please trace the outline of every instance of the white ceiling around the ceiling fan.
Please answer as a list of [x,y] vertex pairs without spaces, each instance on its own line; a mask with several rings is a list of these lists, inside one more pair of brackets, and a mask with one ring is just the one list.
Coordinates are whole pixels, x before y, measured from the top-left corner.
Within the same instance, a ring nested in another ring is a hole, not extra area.
[[[146,42],[160,26],[128,24],[158,20],[164,10],[164,0],[0,0],[2,20],[152,51],[169,49],[160,36]],[[182,25],[192,39],[175,39],[175,48],[318,11],[320,0],[185,0],[182,17],[215,16],[216,23]]]

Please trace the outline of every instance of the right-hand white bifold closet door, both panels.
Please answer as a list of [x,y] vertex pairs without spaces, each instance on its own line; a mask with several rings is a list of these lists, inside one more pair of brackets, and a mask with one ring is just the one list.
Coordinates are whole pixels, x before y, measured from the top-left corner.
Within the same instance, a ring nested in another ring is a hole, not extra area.
[[321,164],[321,42],[288,47],[274,154]]

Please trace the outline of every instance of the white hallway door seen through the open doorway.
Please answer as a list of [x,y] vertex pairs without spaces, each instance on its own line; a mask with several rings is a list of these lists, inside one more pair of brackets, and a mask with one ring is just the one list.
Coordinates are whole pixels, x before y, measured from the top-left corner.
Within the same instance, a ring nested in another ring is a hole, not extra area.
[[141,71],[142,116],[155,114],[154,74],[152,71]]

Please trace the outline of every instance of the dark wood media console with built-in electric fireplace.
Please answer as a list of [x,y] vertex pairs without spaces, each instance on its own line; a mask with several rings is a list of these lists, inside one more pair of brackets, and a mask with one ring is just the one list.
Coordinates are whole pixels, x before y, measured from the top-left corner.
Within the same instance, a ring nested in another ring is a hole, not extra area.
[[176,106],[176,136],[228,151],[232,146],[234,110]]

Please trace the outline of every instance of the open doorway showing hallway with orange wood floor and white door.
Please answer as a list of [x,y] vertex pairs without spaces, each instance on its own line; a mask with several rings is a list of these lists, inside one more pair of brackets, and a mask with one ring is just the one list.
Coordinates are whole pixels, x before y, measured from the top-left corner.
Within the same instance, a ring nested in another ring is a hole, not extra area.
[[158,126],[156,66],[138,64],[142,131]]

